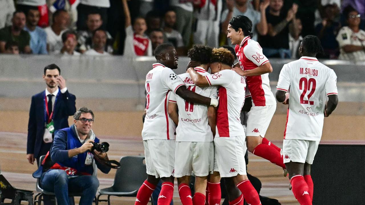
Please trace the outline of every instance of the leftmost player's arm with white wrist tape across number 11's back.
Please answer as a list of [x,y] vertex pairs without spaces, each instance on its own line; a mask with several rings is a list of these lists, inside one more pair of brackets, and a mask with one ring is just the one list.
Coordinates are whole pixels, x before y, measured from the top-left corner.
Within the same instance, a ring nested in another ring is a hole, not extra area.
[[188,102],[193,102],[203,105],[213,105],[214,107],[218,106],[218,100],[209,97],[204,97],[200,94],[192,92],[191,90],[188,90],[185,86],[180,86],[176,90],[176,94]]

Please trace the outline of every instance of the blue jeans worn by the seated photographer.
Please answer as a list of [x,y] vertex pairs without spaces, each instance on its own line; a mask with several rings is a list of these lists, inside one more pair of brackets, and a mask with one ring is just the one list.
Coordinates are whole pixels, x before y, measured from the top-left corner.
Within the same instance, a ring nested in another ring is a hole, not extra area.
[[80,205],[91,205],[99,180],[92,175],[68,178],[64,170],[50,169],[42,174],[41,186],[47,192],[54,192],[58,205],[69,205],[69,192],[81,193]]

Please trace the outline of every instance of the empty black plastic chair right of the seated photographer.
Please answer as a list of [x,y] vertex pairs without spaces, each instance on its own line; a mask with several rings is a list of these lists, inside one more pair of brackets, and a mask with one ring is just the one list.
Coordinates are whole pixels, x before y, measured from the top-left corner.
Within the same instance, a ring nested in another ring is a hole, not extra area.
[[[113,185],[99,190],[97,203],[107,201],[110,205],[110,196],[137,197],[139,187],[147,179],[144,159],[145,156],[123,156],[120,158],[121,167],[116,170]],[[107,195],[108,199],[100,200],[101,195]]]

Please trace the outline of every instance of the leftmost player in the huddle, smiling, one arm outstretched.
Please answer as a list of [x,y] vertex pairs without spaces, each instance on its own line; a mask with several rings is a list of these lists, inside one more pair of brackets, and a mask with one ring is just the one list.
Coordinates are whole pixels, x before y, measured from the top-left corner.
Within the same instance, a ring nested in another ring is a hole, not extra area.
[[155,49],[157,63],[146,75],[147,105],[142,138],[145,147],[147,180],[137,193],[135,205],[146,205],[160,178],[158,205],[169,205],[174,191],[175,124],[168,116],[170,91],[188,102],[218,105],[218,100],[188,90],[172,69],[177,69],[178,56],[170,44]]

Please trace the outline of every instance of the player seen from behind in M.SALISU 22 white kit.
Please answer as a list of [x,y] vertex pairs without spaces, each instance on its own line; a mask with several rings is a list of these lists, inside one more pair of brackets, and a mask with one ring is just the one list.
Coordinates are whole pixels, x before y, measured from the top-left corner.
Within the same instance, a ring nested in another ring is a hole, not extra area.
[[294,196],[301,205],[312,204],[311,164],[322,136],[323,119],[331,115],[338,103],[337,76],[315,58],[321,52],[318,37],[305,36],[299,47],[301,58],[283,66],[277,83],[277,101],[289,104],[284,163]]

